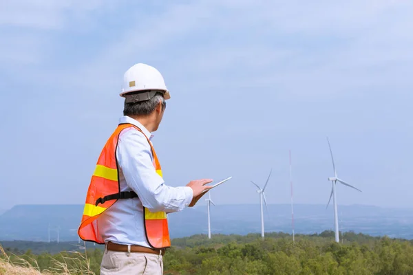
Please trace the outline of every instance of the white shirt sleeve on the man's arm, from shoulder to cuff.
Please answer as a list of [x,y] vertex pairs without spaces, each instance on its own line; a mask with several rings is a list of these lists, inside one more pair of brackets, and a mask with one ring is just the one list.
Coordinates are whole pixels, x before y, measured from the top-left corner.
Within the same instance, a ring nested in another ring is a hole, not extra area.
[[178,212],[191,203],[192,188],[167,186],[156,173],[151,146],[140,131],[130,129],[120,135],[116,156],[127,186],[151,212]]

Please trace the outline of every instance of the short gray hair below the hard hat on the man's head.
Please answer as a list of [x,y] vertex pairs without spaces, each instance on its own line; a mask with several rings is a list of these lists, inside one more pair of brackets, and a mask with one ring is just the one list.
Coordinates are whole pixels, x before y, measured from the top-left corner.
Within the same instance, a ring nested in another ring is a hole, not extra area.
[[162,100],[162,111],[167,107],[167,102],[163,97],[163,94],[158,92],[149,100],[129,102],[125,100],[125,107],[123,108],[123,115],[150,115],[155,111],[160,100]]

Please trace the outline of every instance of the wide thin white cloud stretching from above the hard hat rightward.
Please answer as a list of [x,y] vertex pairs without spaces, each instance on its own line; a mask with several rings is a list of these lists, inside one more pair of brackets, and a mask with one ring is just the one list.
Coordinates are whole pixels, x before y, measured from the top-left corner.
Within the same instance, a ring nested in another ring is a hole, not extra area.
[[[157,17],[149,14],[131,21],[123,38],[98,54],[87,70],[93,74],[105,68],[100,71],[107,79],[118,80],[129,65],[153,54],[165,58],[169,63],[165,67],[190,68],[189,73],[198,73],[200,78],[227,81],[229,77],[222,72],[232,69],[233,81],[240,81],[240,85],[289,83],[286,85],[296,91],[303,85],[313,86],[315,94],[334,91],[337,83],[348,88],[391,81],[394,74],[372,73],[372,67],[394,66],[394,62],[412,58],[413,34],[408,32],[413,23],[408,12],[411,7],[408,2],[384,0],[176,5]],[[215,33],[222,30],[234,41],[217,39]],[[187,46],[187,51],[183,56],[174,55],[168,50],[171,45]],[[235,71],[244,68],[253,74],[240,80]]]

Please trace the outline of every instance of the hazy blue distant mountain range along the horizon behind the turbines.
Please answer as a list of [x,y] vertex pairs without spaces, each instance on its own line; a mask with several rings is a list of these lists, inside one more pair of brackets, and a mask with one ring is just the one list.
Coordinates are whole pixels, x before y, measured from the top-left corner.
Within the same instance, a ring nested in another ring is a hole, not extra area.
[[[265,208],[264,208],[265,209]],[[76,241],[83,205],[19,205],[0,215],[0,240],[47,241],[50,224],[51,241]],[[268,205],[264,212],[266,232],[291,232],[289,204]],[[332,206],[296,204],[295,232],[320,233],[334,228]],[[168,215],[172,238],[207,234],[207,206],[187,208]],[[340,230],[363,232],[372,236],[388,235],[413,239],[413,208],[379,208],[376,206],[339,206]],[[213,234],[248,234],[260,232],[258,204],[217,205],[211,207]]]

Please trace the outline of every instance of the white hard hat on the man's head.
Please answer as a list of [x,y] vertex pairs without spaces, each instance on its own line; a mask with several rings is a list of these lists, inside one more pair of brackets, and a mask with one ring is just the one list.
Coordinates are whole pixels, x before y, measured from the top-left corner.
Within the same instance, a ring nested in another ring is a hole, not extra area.
[[119,95],[125,97],[125,94],[131,91],[145,90],[165,91],[165,100],[171,98],[165,80],[158,69],[138,63],[130,67],[123,75],[122,92]]

